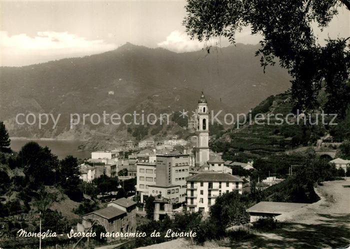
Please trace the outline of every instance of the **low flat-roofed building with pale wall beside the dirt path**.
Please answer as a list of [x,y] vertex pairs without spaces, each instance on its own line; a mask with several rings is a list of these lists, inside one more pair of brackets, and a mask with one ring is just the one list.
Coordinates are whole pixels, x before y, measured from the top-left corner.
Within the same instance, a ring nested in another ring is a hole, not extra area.
[[250,215],[250,222],[255,222],[262,217],[277,217],[302,207],[307,203],[287,203],[287,202],[259,202],[248,208],[246,212]]

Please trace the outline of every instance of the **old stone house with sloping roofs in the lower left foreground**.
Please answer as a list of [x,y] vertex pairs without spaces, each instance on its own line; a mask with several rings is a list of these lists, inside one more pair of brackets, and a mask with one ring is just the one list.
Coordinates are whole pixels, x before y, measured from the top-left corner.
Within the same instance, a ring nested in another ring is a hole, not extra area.
[[[120,198],[98,209],[81,216],[82,222],[77,224],[78,232],[86,232],[93,222],[104,227],[107,233],[136,232],[136,203],[126,198]],[[108,238],[107,240],[122,238]]]

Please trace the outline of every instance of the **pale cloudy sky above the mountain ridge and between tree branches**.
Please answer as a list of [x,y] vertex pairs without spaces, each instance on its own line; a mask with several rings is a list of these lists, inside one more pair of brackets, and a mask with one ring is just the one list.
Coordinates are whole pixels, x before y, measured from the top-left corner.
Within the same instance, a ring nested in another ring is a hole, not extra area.
[[[190,40],[182,26],[185,0],[0,1],[0,65],[22,66],[113,50],[130,42],[174,52],[207,44]],[[316,30],[319,40],[350,36],[350,15],[339,9],[329,27]],[[256,44],[249,28],[236,42]],[[211,41],[227,46],[228,41]]]

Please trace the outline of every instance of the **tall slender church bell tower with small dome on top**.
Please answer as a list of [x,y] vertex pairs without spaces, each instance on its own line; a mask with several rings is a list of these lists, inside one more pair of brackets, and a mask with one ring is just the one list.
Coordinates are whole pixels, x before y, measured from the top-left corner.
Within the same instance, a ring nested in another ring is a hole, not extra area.
[[209,110],[203,92],[198,100],[196,112],[198,126],[196,130],[195,166],[201,166],[209,160]]

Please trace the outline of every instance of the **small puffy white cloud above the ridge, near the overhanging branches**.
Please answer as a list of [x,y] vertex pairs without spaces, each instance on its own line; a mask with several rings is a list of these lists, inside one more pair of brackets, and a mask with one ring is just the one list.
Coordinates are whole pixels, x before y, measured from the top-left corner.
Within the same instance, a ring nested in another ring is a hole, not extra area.
[[205,43],[198,40],[191,40],[186,33],[175,30],[166,36],[164,41],[157,43],[157,45],[174,52],[190,52],[202,49]]

